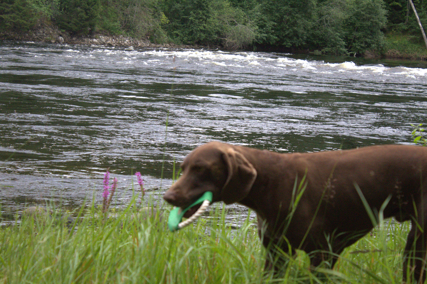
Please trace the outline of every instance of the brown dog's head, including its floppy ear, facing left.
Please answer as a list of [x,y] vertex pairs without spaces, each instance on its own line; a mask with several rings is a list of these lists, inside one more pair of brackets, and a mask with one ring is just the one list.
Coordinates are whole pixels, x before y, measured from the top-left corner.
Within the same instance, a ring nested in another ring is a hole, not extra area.
[[213,192],[213,202],[226,204],[246,197],[257,177],[254,166],[235,147],[210,142],[194,149],[181,163],[182,175],[163,198],[185,208],[206,191]]

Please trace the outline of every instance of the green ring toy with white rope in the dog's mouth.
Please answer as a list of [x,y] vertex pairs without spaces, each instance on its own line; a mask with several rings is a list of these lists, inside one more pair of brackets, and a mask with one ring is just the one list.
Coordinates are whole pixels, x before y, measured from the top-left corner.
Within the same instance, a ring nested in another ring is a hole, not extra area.
[[[180,207],[174,207],[169,214],[169,219],[167,221],[167,227],[170,231],[178,231],[179,229],[184,228],[185,226],[193,223],[197,218],[199,218],[208,208],[209,204],[212,202],[212,192],[206,191],[198,200],[193,204],[188,206],[186,209],[182,210]],[[185,212],[188,211],[191,207],[202,203],[202,205],[197,209],[197,211],[191,215],[187,220],[181,222],[182,217],[184,217]]]

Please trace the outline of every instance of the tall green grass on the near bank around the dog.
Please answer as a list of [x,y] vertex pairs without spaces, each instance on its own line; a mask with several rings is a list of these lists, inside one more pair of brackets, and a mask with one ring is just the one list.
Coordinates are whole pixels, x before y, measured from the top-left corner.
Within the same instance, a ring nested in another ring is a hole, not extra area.
[[[232,229],[216,206],[192,226],[168,232],[166,220],[131,219],[136,212],[129,206],[103,222],[92,206],[73,228],[32,218],[1,227],[0,283],[325,283],[303,252],[281,278],[264,275],[265,251],[249,215]],[[400,283],[408,230],[407,223],[380,222],[334,270],[323,270],[326,283]]]

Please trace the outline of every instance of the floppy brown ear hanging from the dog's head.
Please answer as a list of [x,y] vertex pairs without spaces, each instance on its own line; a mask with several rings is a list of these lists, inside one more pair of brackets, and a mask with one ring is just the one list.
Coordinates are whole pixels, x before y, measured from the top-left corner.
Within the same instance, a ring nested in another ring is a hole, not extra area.
[[228,177],[221,191],[221,200],[225,204],[238,202],[248,195],[257,177],[254,166],[243,154],[228,148],[223,154],[228,168]]

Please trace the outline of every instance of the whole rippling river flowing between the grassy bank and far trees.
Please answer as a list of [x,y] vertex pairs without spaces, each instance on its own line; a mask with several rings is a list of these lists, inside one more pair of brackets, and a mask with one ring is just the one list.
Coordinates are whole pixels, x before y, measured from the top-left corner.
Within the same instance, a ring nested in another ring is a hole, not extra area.
[[426,110],[422,62],[3,42],[3,224],[48,200],[99,203],[107,168],[113,206],[129,203],[135,171],[166,206],[173,164],[212,140],[283,153],[408,144]]

